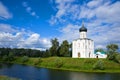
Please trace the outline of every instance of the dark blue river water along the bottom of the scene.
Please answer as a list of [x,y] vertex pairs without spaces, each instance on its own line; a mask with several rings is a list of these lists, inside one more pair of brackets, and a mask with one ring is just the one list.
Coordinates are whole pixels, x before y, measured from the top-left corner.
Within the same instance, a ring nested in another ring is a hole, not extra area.
[[120,73],[84,73],[19,64],[0,64],[0,75],[21,80],[120,80]]

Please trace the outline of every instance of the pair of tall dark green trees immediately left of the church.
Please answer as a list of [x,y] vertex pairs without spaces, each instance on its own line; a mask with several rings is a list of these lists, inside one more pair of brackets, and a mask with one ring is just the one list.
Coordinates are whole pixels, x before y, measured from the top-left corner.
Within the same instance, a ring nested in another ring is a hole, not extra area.
[[58,40],[51,40],[52,46],[49,49],[50,56],[60,56],[60,57],[70,57],[71,56],[71,44],[67,40],[64,40],[61,45],[59,45]]

